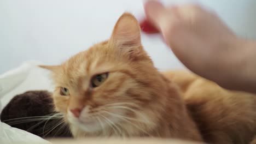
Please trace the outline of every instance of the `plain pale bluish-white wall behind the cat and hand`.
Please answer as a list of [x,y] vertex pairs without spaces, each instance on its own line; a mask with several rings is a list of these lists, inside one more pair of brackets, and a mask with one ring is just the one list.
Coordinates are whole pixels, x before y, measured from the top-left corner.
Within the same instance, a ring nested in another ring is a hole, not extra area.
[[[109,38],[118,17],[128,11],[143,17],[139,0],[0,0],[0,74],[25,61],[60,64]],[[216,11],[241,37],[256,38],[255,0],[196,2]],[[173,35],[175,37],[175,35]],[[160,70],[183,68],[159,35],[142,34],[142,43]]]

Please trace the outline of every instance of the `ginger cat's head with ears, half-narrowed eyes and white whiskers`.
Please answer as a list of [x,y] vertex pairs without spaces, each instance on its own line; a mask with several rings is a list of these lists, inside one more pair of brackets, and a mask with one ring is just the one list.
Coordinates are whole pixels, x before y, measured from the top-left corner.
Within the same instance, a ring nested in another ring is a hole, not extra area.
[[147,134],[158,121],[162,78],[143,50],[131,14],[119,18],[108,41],[61,65],[41,67],[53,71],[54,104],[74,136]]

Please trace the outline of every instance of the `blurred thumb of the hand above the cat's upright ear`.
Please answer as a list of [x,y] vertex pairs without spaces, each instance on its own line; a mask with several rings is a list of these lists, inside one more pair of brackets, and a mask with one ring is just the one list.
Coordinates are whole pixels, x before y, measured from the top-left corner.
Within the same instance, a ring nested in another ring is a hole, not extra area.
[[161,31],[161,19],[165,15],[165,7],[158,1],[147,1],[144,4],[147,20],[159,31]]

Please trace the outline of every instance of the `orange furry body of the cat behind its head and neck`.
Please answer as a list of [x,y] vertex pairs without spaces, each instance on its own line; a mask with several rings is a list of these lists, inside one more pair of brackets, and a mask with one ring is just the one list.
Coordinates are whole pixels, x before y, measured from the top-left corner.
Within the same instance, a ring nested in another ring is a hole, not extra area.
[[[228,91],[188,71],[168,71],[209,143],[249,143],[256,134],[256,94]],[[255,142],[254,142],[255,143]]]

